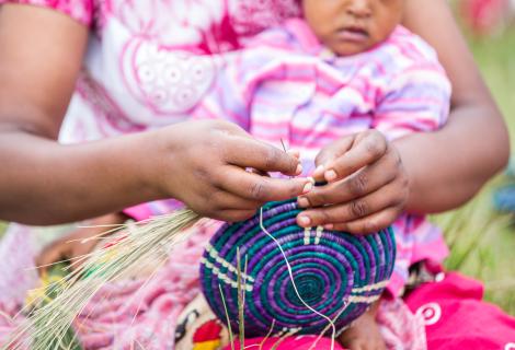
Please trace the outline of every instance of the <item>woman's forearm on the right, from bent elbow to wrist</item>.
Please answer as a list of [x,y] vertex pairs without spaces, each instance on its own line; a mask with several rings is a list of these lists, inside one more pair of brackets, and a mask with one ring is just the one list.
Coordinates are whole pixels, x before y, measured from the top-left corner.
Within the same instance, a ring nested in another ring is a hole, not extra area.
[[430,213],[457,208],[506,165],[508,137],[489,104],[456,108],[437,132],[394,142],[410,178],[407,210]]

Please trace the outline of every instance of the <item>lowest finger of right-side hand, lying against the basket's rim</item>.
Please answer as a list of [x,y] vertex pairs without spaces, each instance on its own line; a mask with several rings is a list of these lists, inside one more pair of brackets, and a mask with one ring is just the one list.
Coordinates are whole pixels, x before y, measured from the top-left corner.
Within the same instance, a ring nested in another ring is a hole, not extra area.
[[[398,182],[391,182],[365,197],[356,198],[342,205],[306,210],[299,217],[307,217],[309,219],[308,226],[351,222],[388,207],[401,207],[405,198],[404,190],[399,189]],[[308,221],[300,219],[299,222]]]

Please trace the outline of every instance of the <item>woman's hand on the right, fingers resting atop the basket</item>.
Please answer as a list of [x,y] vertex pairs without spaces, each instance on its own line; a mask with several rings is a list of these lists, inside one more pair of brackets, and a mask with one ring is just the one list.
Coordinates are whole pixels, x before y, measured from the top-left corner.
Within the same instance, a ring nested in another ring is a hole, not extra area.
[[403,211],[409,178],[396,147],[382,133],[367,130],[325,147],[313,177],[329,184],[299,197],[306,210],[301,226],[370,233],[390,225]]

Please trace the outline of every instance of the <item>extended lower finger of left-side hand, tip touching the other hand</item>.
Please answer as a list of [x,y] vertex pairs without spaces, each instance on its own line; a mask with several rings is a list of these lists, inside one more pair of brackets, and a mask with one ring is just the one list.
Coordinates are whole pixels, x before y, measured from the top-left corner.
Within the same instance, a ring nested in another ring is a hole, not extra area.
[[313,187],[308,178],[271,178],[237,166],[226,166],[215,183],[238,197],[260,202],[295,198]]

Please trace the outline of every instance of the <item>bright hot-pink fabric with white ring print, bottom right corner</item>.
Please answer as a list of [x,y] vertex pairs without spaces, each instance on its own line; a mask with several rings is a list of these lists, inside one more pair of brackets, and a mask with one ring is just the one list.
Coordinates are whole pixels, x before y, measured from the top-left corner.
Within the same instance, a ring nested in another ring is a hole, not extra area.
[[405,302],[424,316],[427,349],[515,349],[515,318],[482,302],[483,285],[459,273],[426,283]]

